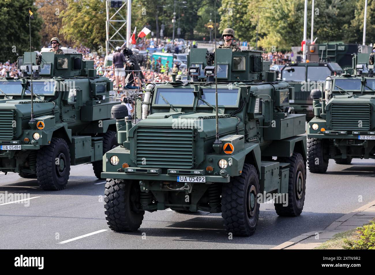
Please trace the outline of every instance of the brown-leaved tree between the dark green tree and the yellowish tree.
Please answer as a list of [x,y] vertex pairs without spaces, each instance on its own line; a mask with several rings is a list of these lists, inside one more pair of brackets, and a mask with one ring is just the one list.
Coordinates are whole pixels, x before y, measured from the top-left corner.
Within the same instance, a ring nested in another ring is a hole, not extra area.
[[36,0],[35,4],[38,7],[39,16],[43,19],[43,25],[40,30],[42,45],[49,45],[50,39],[55,36],[58,36],[61,45],[69,45],[65,37],[61,33],[59,34],[60,29],[63,27],[62,18],[59,15],[68,7],[67,1]]

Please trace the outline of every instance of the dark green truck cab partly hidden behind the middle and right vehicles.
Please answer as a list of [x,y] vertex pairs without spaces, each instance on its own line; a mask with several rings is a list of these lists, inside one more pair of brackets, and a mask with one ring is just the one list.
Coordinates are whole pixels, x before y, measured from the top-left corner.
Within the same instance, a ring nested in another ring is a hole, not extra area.
[[[337,63],[303,62],[285,64],[281,69],[281,79],[294,87],[294,113],[306,114],[306,120],[314,117],[310,92],[325,83],[327,76],[342,73]],[[292,103],[292,102],[290,102]]]

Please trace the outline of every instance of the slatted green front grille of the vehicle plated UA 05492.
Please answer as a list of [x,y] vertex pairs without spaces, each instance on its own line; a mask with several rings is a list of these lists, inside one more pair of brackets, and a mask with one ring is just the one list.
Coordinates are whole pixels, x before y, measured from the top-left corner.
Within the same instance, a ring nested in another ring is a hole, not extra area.
[[138,127],[136,165],[150,168],[192,168],[193,129]]

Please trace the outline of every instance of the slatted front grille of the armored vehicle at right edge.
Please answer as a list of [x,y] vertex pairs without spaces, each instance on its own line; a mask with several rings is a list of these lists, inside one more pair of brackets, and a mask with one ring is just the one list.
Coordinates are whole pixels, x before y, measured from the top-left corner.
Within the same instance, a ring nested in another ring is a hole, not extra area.
[[370,129],[370,110],[369,104],[332,104],[332,130],[368,131]]

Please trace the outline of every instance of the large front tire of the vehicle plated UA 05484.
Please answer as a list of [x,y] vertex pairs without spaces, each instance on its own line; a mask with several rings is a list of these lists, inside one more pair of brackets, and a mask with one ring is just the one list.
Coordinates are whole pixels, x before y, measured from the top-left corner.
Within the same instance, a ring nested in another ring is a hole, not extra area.
[[62,190],[70,174],[70,154],[66,141],[52,138],[36,156],[36,177],[43,190]]

